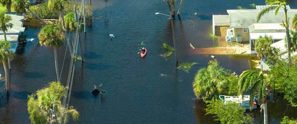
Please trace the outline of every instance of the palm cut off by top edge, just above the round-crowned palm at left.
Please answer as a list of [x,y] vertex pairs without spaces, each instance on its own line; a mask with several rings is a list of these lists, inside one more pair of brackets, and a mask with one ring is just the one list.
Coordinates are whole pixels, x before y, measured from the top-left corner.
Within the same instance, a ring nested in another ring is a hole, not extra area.
[[53,10],[58,10],[59,14],[59,20],[61,22],[62,20],[62,25],[63,28],[66,29],[65,27],[65,22],[64,22],[64,3],[66,3],[67,0],[49,0],[48,1],[48,9],[53,11]]

